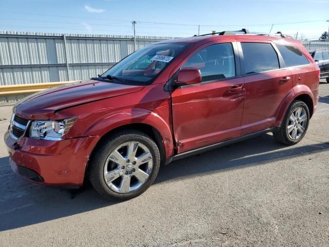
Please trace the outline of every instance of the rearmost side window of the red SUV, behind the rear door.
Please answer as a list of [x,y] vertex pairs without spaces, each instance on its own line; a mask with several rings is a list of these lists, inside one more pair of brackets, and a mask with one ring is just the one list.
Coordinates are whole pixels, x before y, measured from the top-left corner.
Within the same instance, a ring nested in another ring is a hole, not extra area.
[[309,64],[303,52],[292,45],[277,45],[286,67]]

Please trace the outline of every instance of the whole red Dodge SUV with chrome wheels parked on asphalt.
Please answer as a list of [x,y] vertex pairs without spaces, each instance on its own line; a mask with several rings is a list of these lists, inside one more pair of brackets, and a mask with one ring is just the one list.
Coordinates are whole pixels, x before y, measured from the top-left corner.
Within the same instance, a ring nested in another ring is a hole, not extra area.
[[282,34],[217,34],[148,45],[98,78],[18,102],[5,135],[12,169],[45,185],[88,178],[124,200],[178,158],[265,132],[298,143],[318,102],[308,51]]

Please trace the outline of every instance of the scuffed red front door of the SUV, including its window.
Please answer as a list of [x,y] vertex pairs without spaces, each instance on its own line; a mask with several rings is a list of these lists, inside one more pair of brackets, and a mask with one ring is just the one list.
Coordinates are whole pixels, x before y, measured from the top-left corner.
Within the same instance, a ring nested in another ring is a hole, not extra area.
[[181,66],[198,68],[202,83],[171,93],[178,153],[240,136],[244,82],[236,53],[234,42],[203,45]]

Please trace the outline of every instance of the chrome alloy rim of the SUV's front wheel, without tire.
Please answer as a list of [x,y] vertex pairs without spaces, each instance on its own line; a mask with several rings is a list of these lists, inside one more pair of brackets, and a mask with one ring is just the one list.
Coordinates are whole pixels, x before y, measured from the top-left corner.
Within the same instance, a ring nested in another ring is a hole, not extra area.
[[139,142],[127,142],[108,155],[103,177],[111,190],[129,193],[148,181],[152,168],[153,157],[150,149]]

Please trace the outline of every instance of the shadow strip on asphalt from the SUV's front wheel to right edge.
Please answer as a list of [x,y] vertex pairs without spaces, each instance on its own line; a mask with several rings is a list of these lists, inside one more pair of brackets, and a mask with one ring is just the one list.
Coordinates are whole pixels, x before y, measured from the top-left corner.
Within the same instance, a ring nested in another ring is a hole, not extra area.
[[329,149],[329,142],[287,147],[276,142],[270,134],[265,134],[163,166],[160,168],[156,183],[181,180],[191,175],[263,165],[274,160],[285,160],[291,158],[291,156],[301,156],[327,149]]

